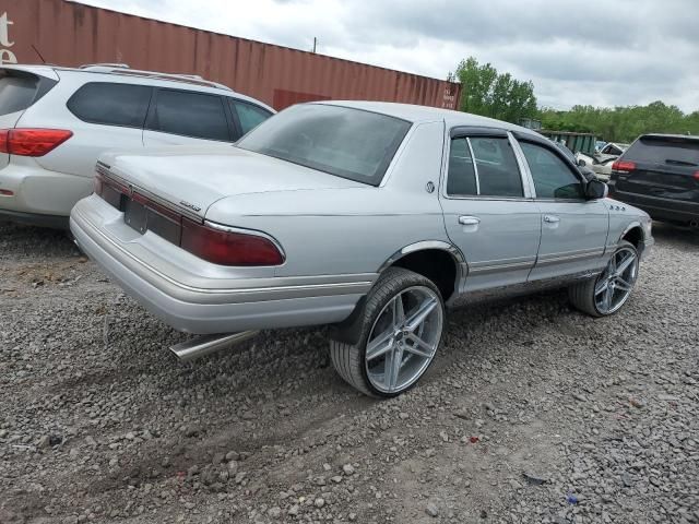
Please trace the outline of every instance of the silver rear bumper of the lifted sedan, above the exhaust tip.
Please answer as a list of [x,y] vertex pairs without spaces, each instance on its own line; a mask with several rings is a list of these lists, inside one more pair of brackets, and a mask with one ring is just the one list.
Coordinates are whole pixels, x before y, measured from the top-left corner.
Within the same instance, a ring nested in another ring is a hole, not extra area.
[[73,209],[70,228],[78,245],[145,309],[178,331],[213,334],[340,322],[377,276],[240,278],[227,288],[214,287],[214,279],[211,287],[201,287],[206,281],[200,279],[194,287],[140,260],[130,252],[130,242],[91,222],[91,205],[108,205],[99,202],[91,196]]

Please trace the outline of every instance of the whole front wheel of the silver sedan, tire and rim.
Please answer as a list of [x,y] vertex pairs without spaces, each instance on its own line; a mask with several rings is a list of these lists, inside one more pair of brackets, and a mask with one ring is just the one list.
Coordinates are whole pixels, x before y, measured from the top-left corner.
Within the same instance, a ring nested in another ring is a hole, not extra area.
[[[624,273],[623,276],[626,276],[626,279],[615,281],[613,283],[609,277],[611,274],[615,272],[615,264],[626,255],[632,257],[632,260],[630,261],[631,265],[627,266],[626,270],[621,272]],[[568,288],[570,302],[580,311],[592,317],[608,317],[609,314],[614,314],[621,309],[631,295],[633,285],[638,277],[638,250],[631,242],[621,240],[602,273],[600,273],[595,278],[589,278]],[[629,289],[623,290],[620,287],[617,287],[615,291],[615,286],[620,285],[620,282],[624,282],[625,285],[628,284]],[[607,287],[605,287],[605,283]],[[601,294],[608,294],[609,291],[612,293],[612,298],[608,302],[609,306],[605,307],[605,301]],[[616,295],[615,298],[615,293],[623,293],[623,295]]]

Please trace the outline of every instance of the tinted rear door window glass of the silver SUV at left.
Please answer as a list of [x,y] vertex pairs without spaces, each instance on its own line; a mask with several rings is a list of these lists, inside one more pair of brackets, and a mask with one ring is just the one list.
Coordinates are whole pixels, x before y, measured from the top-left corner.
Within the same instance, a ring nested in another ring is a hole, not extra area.
[[230,140],[222,98],[188,91],[159,90],[149,129],[194,139]]

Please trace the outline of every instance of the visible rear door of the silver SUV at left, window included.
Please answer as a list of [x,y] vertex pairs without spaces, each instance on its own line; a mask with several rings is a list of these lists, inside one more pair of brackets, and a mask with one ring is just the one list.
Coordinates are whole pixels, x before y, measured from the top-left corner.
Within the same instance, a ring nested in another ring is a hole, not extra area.
[[161,87],[149,109],[143,145],[233,142],[236,133],[228,111],[220,95]]

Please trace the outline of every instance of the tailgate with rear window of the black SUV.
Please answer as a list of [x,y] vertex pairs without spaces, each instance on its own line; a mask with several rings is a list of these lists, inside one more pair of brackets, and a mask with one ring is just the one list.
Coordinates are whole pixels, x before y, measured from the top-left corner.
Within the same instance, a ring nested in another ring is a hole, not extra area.
[[615,171],[619,191],[699,202],[699,138],[641,136],[619,162],[635,164]]

